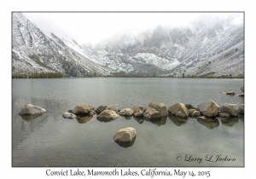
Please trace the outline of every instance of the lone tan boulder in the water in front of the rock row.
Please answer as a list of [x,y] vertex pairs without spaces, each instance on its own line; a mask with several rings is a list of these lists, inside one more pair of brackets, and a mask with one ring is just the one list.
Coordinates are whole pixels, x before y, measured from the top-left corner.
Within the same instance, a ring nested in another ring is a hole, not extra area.
[[116,142],[131,142],[135,140],[137,132],[134,128],[127,127],[119,130],[114,136],[113,141]]

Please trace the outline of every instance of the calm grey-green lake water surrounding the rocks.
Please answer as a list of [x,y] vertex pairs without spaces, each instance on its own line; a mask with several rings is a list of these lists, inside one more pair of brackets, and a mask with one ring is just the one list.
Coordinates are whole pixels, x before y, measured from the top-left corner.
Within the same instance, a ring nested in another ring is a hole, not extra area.
[[[104,123],[94,115],[83,123],[62,118],[79,104],[94,107],[119,104],[148,106],[177,102],[195,106],[212,100],[243,104],[244,98],[220,91],[240,92],[243,79],[199,78],[55,78],[12,80],[13,166],[244,166],[244,117],[181,123],[166,117],[152,121],[119,118]],[[31,103],[47,110],[26,120],[18,114]],[[131,147],[113,141],[122,128],[133,127]],[[208,160],[208,161],[207,161]],[[221,160],[221,161],[220,161]]]

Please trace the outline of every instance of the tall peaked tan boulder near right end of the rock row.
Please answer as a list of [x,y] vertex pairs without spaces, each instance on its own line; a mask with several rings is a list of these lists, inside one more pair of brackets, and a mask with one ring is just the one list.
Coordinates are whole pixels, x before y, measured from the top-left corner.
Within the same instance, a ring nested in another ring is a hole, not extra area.
[[198,109],[202,115],[210,118],[216,117],[219,112],[218,105],[212,100],[201,103]]

